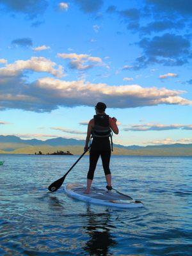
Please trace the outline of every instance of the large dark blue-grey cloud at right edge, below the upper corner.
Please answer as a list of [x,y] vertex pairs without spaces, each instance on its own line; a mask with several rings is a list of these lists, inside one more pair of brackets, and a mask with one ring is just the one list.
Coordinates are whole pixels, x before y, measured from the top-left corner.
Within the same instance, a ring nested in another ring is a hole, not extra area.
[[145,68],[159,63],[164,66],[182,66],[191,59],[191,44],[188,38],[166,33],[153,38],[143,38],[137,43],[143,55],[136,59],[133,69]]

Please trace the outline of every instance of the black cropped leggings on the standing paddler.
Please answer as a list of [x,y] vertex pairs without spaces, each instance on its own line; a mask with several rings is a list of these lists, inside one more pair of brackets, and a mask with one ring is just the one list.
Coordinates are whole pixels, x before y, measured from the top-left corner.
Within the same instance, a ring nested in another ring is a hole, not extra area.
[[105,175],[108,175],[111,173],[109,169],[111,150],[108,150],[108,151],[90,150],[90,168],[87,174],[87,179],[93,180],[93,176],[94,176],[94,172],[95,172],[95,168],[96,168],[99,156],[102,159],[102,166],[103,166]]

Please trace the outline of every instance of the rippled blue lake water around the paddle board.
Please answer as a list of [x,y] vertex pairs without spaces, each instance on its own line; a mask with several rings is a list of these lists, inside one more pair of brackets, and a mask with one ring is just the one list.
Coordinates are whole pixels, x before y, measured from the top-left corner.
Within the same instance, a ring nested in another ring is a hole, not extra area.
[[[192,255],[192,157],[112,156],[113,187],[144,204],[121,210],[47,191],[77,158],[0,155],[0,255]],[[84,156],[65,184],[87,170]]]

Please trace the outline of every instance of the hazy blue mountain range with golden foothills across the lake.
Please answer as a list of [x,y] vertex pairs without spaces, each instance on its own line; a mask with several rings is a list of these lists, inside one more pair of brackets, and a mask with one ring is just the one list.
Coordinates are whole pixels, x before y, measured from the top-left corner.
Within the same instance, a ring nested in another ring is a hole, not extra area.
[[[84,140],[53,138],[49,140],[22,140],[17,136],[0,135],[0,154],[35,154],[42,151],[54,152],[55,150],[69,150],[73,154],[81,154]],[[113,144],[113,154],[131,156],[192,156],[192,144],[175,143],[172,145],[124,146]]]

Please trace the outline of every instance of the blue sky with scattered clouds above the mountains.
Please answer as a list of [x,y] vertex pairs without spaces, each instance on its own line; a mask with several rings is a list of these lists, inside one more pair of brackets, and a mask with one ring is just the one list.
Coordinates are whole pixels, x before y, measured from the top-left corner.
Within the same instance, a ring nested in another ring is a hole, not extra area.
[[191,0],[0,0],[0,134],[192,143]]

